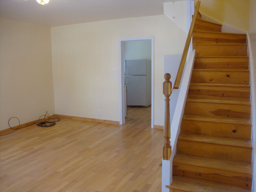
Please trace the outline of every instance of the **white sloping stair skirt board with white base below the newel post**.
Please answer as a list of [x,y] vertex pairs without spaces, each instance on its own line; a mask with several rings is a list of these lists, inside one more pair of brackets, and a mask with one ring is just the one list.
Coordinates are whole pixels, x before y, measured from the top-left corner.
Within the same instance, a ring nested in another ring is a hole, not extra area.
[[[167,190],[165,190],[165,188],[166,188],[165,186],[171,185],[171,182],[172,182],[173,157],[176,154],[176,143],[177,143],[178,135],[180,133],[180,124],[181,124],[182,116],[184,113],[184,107],[185,107],[185,103],[186,103],[186,99],[187,99],[187,91],[189,89],[189,82],[191,79],[194,62],[195,62],[195,50],[193,50],[192,52],[189,52],[189,54],[188,54],[184,73],[182,75],[180,88],[178,89],[179,92],[176,89],[173,90],[172,95],[175,94],[175,92],[178,92],[175,109],[173,109],[171,107],[171,101],[170,101],[170,115],[171,115],[171,110],[174,110],[174,112],[172,112],[173,116],[170,117],[172,120],[171,121],[171,139],[170,139],[171,146],[172,146],[172,153],[171,153],[171,158],[169,161],[169,168],[167,166],[167,162],[165,162],[167,160],[163,160],[162,192],[165,192],[165,191],[167,192]],[[172,98],[170,98],[170,99],[172,100]],[[165,166],[164,166],[164,162],[165,162]],[[168,188],[168,191],[169,191],[169,188]]]

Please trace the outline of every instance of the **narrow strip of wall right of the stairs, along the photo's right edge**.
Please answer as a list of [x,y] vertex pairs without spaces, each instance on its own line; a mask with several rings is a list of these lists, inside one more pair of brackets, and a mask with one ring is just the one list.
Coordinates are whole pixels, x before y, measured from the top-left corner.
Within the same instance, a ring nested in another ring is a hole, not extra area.
[[256,1],[250,0],[250,22],[249,22],[249,40],[250,40],[250,68],[251,68],[251,85],[252,85],[252,110],[253,110],[253,130],[252,130],[252,143],[253,143],[253,173],[254,173],[254,188],[256,191]]

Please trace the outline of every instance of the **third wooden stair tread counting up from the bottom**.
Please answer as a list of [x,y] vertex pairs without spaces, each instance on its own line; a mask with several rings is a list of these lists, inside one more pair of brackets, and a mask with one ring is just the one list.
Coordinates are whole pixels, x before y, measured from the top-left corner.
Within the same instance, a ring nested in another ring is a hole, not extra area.
[[251,140],[180,133],[178,140],[252,149]]

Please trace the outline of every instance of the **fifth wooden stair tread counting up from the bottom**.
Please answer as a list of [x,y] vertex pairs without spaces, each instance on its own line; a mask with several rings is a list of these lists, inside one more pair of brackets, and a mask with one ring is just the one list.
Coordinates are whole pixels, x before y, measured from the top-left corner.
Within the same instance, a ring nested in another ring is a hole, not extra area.
[[187,98],[187,102],[199,102],[199,103],[219,103],[219,104],[231,104],[231,105],[251,105],[249,101],[236,101],[236,100],[212,100],[212,99],[194,99]]

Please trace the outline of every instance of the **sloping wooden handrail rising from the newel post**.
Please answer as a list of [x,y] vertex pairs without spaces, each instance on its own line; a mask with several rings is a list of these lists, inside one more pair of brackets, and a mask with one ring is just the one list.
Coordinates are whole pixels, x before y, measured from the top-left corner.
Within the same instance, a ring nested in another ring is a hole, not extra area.
[[176,76],[176,80],[175,80],[173,89],[179,89],[179,87],[180,87],[180,80],[181,80],[182,73],[183,73],[183,70],[184,70],[184,66],[185,66],[185,63],[186,63],[187,52],[189,50],[189,45],[190,45],[190,42],[191,42],[193,30],[194,30],[194,27],[195,27],[195,22],[196,22],[196,19],[197,19],[197,14],[198,14],[200,3],[201,3],[201,1],[198,1],[197,5],[196,5],[196,8],[195,8],[195,13],[193,15],[192,22],[191,22],[191,25],[190,25],[190,28],[189,28],[189,33],[187,35],[187,41],[186,41],[186,44],[185,44],[185,47],[184,47],[184,50],[183,50],[183,54],[182,54],[181,61],[180,61],[180,66],[179,66],[179,69],[178,69],[178,73],[177,73],[177,76]]

